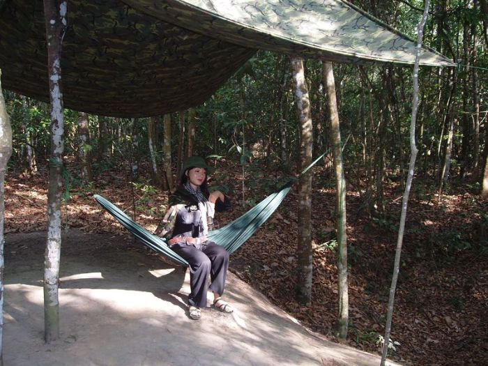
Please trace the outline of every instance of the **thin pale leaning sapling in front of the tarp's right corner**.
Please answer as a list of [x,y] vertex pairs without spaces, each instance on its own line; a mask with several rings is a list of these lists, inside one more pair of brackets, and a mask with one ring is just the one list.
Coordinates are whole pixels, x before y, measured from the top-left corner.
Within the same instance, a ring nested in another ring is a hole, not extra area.
[[398,273],[400,270],[400,259],[402,256],[402,243],[405,229],[406,221],[406,209],[409,204],[409,195],[411,190],[411,185],[413,181],[413,173],[415,171],[415,159],[417,158],[417,146],[415,145],[415,123],[417,120],[418,111],[418,70],[420,61],[420,49],[422,47],[422,38],[424,32],[425,22],[427,21],[427,15],[429,14],[429,4],[430,0],[425,0],[424,13],[422,19],[420,20],[417,28],[417,47],[415,49],[415,63],[413,66],[413,95],[412,95],[412,116],[410,123],[410,163],[409,163],[409,174],[406,178],[406,185],[404,190],[404,195],[402,199],[402,214],[400,215],[400,223],[398,229],[397,247],[395,250],[395,264],[393,265],[393,274],[390,286],[390,296],[388,298],[388,312],[386,314],[386,326],[385,326],[385,336],[383,351],[381,352],[381,366],[386,363],[386,355],[388,354],[388,346],[390,344],[390,332],[391,332],[391,322],[393,317],[393,306],[395,304],[395,291],[397,288]]

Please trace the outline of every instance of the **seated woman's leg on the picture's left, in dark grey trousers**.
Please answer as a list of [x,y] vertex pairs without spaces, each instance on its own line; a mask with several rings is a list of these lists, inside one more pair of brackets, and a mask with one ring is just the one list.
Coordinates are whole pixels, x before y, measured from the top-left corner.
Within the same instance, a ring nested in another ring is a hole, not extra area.
[[191,292],[188,296],[188,303],[197,307],[206,307],[211,260],[193,245],[175,244],[171,246],[171,249],[190,264]]

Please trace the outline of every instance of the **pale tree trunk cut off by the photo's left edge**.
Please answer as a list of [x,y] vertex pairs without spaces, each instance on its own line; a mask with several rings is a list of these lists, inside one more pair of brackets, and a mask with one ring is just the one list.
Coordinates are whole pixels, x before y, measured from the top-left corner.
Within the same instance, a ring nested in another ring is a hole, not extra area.
[[0,366],[3,366],[3,273],[5,262],[3,252],[5,236],[3,224],[5,218],[5,190],[4,181],[7,171],[7,163],[12,155],[12,127],[7,114],[5,99],[1,89],[1,69],[0,69]]

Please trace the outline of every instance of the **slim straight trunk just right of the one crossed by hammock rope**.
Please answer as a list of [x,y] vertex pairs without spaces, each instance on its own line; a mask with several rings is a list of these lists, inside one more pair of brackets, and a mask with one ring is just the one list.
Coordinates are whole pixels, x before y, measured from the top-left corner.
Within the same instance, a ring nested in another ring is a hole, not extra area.
[[330,118],[330,141],[333,145],[336,181],[336,231],[337,244],[337,287],[339,290],[339,314],[337,318],[337,337],[345,339],[349,326],[349,293],[347,285],[347,234],[346,234],[346,179],[342,160],[342,144],[339,113],[335,98],[335,81],[332,63],[323,63],[323,79],[326,84]]

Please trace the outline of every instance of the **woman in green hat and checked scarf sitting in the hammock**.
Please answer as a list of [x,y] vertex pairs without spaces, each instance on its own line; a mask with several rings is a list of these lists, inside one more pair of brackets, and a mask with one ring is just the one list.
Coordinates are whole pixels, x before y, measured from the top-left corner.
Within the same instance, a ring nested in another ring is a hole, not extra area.
[[[207,305],[208,275],[213,291],[213,305],[222,312],[232,307],[222,300],[229,267],[229,252],[206,238],[212,229],[215,211],[229,208],[229,197],[222,192],[208,192],[207,174],[213,169],[203,158],[192,156],[183,162],[181,184],[169,197],[170,208],[155,234],[168,236],[171,250],[190,264],[190,318],[200,319],[201,307]],[[172,232],[171,231],[172,228]]]

